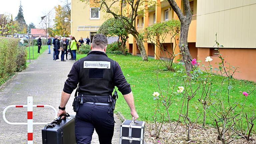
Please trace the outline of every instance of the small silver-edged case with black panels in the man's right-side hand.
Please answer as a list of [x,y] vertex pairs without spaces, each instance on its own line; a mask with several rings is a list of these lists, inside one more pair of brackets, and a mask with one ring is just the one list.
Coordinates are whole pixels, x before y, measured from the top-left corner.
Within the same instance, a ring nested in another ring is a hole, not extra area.
[[145,121],[135,121],[130,125],[131,122],[131,120],[125,120],[120,126],[120,144],[143,144]]

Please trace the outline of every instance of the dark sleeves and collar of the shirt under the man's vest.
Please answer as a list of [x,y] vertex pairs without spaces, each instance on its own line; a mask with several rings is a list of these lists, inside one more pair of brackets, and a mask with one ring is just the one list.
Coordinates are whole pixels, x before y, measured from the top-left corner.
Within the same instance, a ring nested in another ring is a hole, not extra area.
[[[91,51],[89,54],[101,54],[107,56],[106,53],[104,52],[99,52],[99,51]],[[79,65],[78,61],[76,61],[69,74],[68,74],[68,79],[66,80],[64,84],[63,91],[71,94],[73,90],[77,87],[78,84],[78,73],[79,73]],[[115,86],[117,86],[118,90],[123,94],[129,94],[132,90],[130,87],[130,84],[126,81],[123,72],[121,70],[120,65],[115,62],[115,69],[114,69],[114,76],[113,76],[113,83]]]

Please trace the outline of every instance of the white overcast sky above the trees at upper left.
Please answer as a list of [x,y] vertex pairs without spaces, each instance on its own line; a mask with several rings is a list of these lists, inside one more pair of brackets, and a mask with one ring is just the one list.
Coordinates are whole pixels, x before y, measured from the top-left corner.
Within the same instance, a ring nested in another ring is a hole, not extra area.
[[[0,0],[0,14],[12,14],[13,19],[17,16],[20,0]],[[39,26],[41,17],[49,12],[54,6],[64,5],[63,0],[21,0],[24,19],[27,24],[34,23]]]

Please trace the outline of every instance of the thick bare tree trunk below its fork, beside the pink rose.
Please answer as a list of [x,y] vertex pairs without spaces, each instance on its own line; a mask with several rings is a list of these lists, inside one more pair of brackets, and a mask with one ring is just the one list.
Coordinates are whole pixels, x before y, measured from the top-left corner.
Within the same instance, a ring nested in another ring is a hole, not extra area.
[[188,28],[189,28],[189,23],[185,23],[185,24],[181,23],[179,47],[180,47],[180,52],[182,53],[183,62],[185,63],[187,74],[191,76],[189,71],[192,70],[192,64],[191,64],[192,57],[188,50]]

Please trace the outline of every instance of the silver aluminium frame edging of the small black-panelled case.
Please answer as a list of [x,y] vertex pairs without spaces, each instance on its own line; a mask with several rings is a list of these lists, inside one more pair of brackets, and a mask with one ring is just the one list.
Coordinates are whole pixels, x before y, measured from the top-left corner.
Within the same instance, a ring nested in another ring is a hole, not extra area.
[[[143,144],[144,142],[144,128],[145,128],[145,121],[142,122],[141,126],[136,126],[136,125],[124,125],[124,123],[127,120],[125,120],[121,126],[120,126],[120,144],[122,144],[122,140],[129,140],[130,143],[132,143],[132,141],[140,141],[140,144]],[[136,121],[135,121],[136,122]],[[129,128],[129,136],[128,137],[124,137],[122,136],[122,129],[123,127]],[[133,138],[132,136],[132,128],[137,128],[137,129],[141,129],[141,136],[140,138]]]

